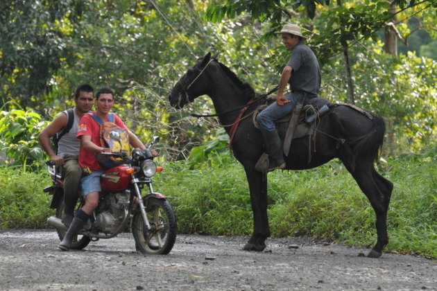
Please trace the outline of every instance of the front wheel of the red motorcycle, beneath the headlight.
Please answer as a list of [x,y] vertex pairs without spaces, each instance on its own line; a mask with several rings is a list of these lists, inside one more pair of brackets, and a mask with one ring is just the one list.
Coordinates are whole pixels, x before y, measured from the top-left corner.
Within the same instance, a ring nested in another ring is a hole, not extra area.
[[142,254],[169,254],[176,240],[176,216],[166,200],[150,198],[146,214],[151,229],[147,229],[141,211],[135,213],[132,234]]

